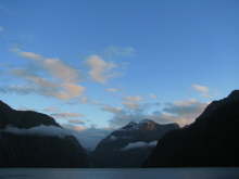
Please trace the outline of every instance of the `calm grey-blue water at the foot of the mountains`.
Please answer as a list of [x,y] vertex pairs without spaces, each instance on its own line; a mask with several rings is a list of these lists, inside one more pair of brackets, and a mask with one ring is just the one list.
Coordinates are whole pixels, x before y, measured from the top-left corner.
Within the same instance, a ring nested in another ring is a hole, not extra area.
[[0,168],[0,179],[239,179],[239,168]]

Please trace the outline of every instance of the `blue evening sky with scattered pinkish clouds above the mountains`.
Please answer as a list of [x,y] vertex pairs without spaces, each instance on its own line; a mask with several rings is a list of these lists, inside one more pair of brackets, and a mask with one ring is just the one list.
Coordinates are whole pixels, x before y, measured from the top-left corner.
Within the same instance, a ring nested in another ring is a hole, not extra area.
[[237,0],[1,0],[0,100],[92,141],[188,125],[238,89],[238,20]]

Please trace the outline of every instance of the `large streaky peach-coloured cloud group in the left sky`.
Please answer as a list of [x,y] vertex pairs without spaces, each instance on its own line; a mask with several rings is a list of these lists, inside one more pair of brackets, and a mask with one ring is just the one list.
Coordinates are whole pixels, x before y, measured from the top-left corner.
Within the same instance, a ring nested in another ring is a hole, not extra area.
[[[65,64],[59,59],[45,57],[34,52],[12,49],[20,56],[32,60],[37,66],[34,72],[30,67],[13,69],[12,74],[27,81],[24,86],[8,87],[12,92],[38,93],[54,97],[59,100],[71,100],[84,93],[85,87],[78,85],[81,75],[78,69]],[[47,77],[46,77],[47,76]],[[1,91],[3,91],[1,89]]]

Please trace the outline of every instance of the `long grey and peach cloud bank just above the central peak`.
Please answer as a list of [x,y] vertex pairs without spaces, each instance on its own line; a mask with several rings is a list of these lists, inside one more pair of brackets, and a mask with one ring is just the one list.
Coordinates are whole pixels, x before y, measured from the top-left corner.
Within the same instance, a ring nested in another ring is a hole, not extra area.
[[191,99],[166,103],[162,110],[152,111],[158,105],[159,103],[137,103],[137,107],[124,105],[125,107],[121,108],[121,111],[113,106],[102,110],[113,114],[109,122],[114,128],[144,118],[153,119],[161,124],[177,123],[180,126],[185,126],[191,124],[203,112],[207,103]]

